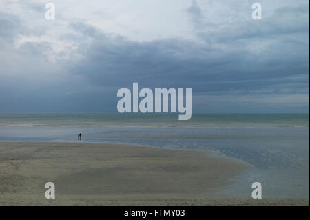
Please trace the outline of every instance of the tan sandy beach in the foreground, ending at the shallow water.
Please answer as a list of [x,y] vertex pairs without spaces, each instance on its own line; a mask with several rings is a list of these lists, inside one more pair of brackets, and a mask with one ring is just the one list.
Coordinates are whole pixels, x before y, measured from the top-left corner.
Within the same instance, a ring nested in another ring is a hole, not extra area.
[[[0,206],[309,206],[309,199],[214,194],[249,168],[200,151],[0,142]],[[45,199],[47,182],[56,199]]]

